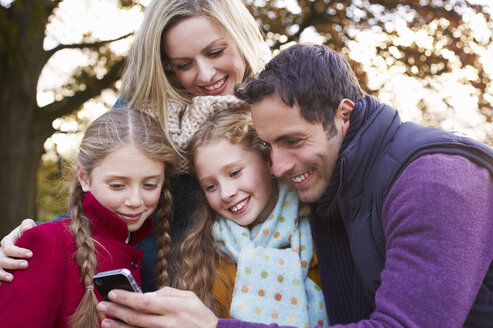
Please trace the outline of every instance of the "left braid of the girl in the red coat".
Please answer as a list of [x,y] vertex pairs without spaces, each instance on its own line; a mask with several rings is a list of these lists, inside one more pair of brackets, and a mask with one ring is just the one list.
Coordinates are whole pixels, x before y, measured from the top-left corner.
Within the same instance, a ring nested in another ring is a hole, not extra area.
[[70,197],[70,209],[72,221],[70,230],[75,238],[77,252],[75,258],[81,268],[81,279],[86,287],[77,310],[70,318],[71,328],[99,327],[102,319],[96,306],[98,300],[94,294],[92,278],[96,274],[97,260],[94,243],[91,238],[91,224],[84,215],[82,199],[84,192],[78,180],[75,182],[74,191]]

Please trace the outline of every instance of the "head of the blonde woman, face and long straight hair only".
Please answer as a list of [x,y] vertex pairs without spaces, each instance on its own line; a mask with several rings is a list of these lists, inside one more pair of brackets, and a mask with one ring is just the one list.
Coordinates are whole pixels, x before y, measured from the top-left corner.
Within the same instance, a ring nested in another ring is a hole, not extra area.
[[170,101],[189,105],[197,95],[232,95],[268,57],[241,0],[155,0],[128,55],[122,97],[166,127]]

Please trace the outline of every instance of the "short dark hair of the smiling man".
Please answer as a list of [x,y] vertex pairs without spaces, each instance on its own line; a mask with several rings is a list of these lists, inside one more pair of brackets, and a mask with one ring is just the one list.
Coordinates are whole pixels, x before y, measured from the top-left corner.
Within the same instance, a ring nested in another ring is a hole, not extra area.
[[339,102],[363,98],[358,80],[348,62],[321,45],[296,44],[281,51],[260,72],[238,86],[235,94],[249,104],[278,94],[309,122],[321,122],[329,136],[335,133],[334,113]]

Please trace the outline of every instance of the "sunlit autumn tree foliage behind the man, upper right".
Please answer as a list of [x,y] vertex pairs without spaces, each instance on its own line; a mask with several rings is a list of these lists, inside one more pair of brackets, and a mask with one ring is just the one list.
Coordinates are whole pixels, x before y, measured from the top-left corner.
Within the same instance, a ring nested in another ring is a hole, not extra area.
[[[449,109],[445,115],[431,113],[426,96],[417,104],[427,125],[440,126],[446,115],[453,114],[451,96],[441,89],[442,82],[452,73],[467,72],[461,83],[473,90],[465,96],[476,100],[484,125],[493,123],[493,72],[484,66],[493,55],[492,8],[487,1],[298,0],[295,10],[286,10],[284,1],[247,3],[259,17],[272,49],[297,42],[304,33],[315,30],[324,44],[349,59],[363,88],[373,95],[379,94],[385,82],[368,84],[373,73],[368,65],[351,60],[350,45],[360,42],[359,37],[367,31],[379,35],[374,47],[367,49],[366,55],[374,63],[372,69],[379,66],[375,71],[380,73],[399,69],[421,81],[423,89],[442,94],[441,100]],[[479,23],[480,31],[475,29]],[[483,139],[493,145],[493,129]]]

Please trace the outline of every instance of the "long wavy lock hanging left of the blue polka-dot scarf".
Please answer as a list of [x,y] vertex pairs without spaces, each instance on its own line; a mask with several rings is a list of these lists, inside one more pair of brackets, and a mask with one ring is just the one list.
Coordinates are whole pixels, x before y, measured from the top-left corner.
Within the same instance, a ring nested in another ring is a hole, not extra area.
[[175,287],[193,291],[207,307],[220,315],[219,305],[212,293],[217,258],[212,237],[214,220],[211,215],[214,214],[204,200],[193,215],[195,223],[188,229],[179,247],[181,262],[177,263]]

